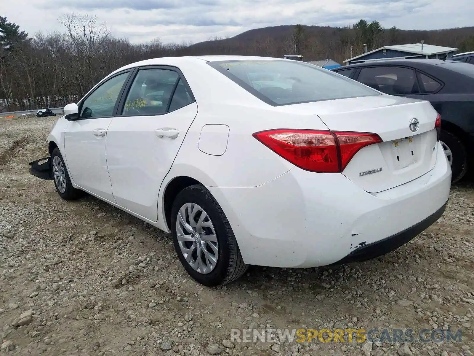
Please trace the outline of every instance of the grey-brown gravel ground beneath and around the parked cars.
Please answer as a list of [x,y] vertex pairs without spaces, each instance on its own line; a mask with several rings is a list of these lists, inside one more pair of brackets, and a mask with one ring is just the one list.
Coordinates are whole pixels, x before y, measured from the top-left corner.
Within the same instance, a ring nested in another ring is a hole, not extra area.
[[[473,355],[474,190],[381,258],[203,287],[167,234],[28,174],[57,117],[0,122],[0,354]],[[230,328],[462,330],[462,342],[230,343]]]

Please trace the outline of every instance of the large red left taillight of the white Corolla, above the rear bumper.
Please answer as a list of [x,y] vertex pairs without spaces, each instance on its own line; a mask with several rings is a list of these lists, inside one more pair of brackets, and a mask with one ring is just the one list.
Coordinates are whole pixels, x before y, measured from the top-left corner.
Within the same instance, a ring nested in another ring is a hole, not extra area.
[[382,142],[367,132],[276,129],[253,136],[295,166],[321,173],[342,172],[358,150]]

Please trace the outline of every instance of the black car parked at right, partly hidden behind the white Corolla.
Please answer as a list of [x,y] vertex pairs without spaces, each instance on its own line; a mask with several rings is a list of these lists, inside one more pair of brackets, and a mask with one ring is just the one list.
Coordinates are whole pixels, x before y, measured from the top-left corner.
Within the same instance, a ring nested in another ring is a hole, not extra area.
[[333,69],[385,94],[428,100],[441,115],[443,148],[453,183],[473,169],[474,66],[451,60],[400,59]]

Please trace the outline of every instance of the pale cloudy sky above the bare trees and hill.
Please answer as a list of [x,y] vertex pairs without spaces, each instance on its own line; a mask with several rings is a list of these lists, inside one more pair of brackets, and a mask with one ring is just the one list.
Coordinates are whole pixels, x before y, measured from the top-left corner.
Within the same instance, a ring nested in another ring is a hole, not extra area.
[[346,26],[359,19],[383,27],[473,26],[473,0],[4,0],[0,15],[32,36],[60,30],[66,12],[96,15],[117,37],[195,43],[275,25]]

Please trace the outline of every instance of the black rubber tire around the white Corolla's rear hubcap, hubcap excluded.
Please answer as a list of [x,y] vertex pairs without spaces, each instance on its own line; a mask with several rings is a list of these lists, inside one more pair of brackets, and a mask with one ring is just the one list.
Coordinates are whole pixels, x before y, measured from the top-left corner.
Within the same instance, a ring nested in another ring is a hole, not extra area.
[[[207,193],[207,194],[206,194]],[[176,232],[176,218],[179,209],[186,203],[194,203],[201,206],[209,216],[218,241],[219,257],[216,267],[207,274],[195,271],[184,258],[180,246],[178,244]],[[211,196],[210,192],[203,186],[191,186],[183,189],[173,202],[171,212],[171,232],[173,236],[173,244],[176,253],[186,270],[192,278],[208,287],[219,285],[227,277],[229,273],[231,251],[237,249],[234,234],[230,228],[230,224],[217,201]]]

